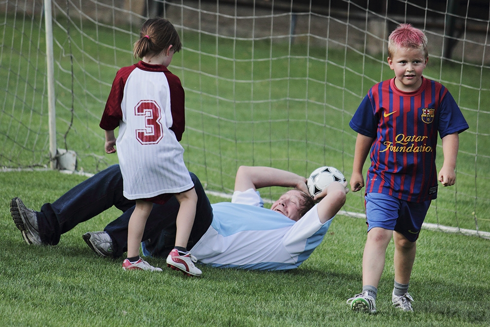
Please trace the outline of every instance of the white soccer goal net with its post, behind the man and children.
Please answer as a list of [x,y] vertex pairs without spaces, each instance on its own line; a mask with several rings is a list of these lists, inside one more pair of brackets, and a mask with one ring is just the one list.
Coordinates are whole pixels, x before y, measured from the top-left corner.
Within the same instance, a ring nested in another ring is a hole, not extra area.
[[[424,75],[470,126],[457,183],[439,188],[427,226],[489,235],[488,0],[4,0],[0,13],[0,167],[50,167],[70,151],[78,171],[117,163],[103,150],[101,113],[117,70],[136,62],[142,23],[162,16],[183,43],[169,68],[186,92],[187,167],[225,193],[240,165],[303,176],[328,165],[348,179],[348,123],[368,89],[393,77],[388,35],[411,23],[429,40]],[[437,152],[441,168],[440,141]],[[360,193],[347,213],[363,214]]]

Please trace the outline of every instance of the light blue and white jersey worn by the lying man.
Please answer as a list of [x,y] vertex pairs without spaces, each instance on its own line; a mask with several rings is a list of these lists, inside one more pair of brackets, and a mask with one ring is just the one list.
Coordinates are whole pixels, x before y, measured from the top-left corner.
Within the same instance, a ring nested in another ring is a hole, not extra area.
[[299,221],[263,207],[259,192],[235,192],[232,202],[212,204],[213,222],[191,249],[203,264],[218,268],[297,268],[323,240],[332,219],[321,224],[317,205]]

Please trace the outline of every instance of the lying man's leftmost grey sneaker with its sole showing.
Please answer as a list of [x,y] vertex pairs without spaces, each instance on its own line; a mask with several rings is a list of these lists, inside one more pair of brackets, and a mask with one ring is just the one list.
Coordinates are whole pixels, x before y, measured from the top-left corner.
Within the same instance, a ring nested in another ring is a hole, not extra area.
[[22,232],[25,243],[33,245],[42,245],[39,228],[37,226],[36,212],[25,207],[19,198],[13,198],[10,201],[10,214],[14,220],[15,226]]

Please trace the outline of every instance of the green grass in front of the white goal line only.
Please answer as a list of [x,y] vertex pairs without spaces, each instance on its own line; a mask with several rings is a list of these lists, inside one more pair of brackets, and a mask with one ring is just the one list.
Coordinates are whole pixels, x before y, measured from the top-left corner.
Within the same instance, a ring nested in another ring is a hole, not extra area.
[[[411,279],[413,313],[391,306],[393,245],[378,313],[345,304],[361,287],[362,219],[337,216],[298,269],[254,272],[200,265],[201,278],[128,273],[122,260],[98,257],[81,235],[102,230],[111,209],[62,235],[57,246],[28,246],[10,217],[18,196],[34,209],[85,177],[58,172],[0,174],[1,326],[489,326],[489,241],[423,231]],[[212,202],[227,201],[211,197]],[[165,267],[164,259],[149,259]]]

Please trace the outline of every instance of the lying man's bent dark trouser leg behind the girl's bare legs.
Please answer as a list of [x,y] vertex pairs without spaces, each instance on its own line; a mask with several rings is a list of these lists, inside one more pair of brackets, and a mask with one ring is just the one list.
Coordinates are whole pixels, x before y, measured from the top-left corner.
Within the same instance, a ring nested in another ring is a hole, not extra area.
[[[197,194],[196,218],[189,237],[187,249],[191,249],[194,244],[211,225],[213,220],[213,210],[201,182],[193,173],[189,173],[194,182]],[[127,251],[127,226],[129,218],[134,208],[123,213],[121,217],[111,222],[104,228],[113,241],[115,256],[121,256]],[[164,205],[153,204],[153,209],[147,219],[143,240],[147,252],[152,256],[166,257],[173,249],[175,243],[175,232],[177,230],[175,221],[179,211],[179,202],[172,197]]]

